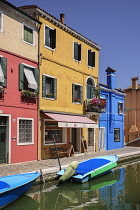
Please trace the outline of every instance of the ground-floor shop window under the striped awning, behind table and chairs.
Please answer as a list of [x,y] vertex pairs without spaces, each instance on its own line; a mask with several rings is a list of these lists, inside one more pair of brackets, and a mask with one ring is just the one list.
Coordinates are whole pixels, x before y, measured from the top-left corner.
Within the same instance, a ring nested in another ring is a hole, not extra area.
[[58,127],[56,121],[46,121],[44,144],[54,144],[54,138],[56,143],[64,143],[64,140],[66,141],[66,129]]

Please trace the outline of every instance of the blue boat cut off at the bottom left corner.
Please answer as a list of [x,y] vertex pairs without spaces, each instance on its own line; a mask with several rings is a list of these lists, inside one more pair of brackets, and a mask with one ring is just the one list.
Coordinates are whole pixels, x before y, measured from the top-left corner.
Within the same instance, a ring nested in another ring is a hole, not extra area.
[[34,172],[0,177],[0,209],[27,192],[40,175]]

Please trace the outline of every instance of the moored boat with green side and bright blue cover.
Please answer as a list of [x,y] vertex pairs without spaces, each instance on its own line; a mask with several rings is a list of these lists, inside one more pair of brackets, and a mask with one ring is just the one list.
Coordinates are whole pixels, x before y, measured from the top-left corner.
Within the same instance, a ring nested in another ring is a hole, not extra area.
[[[116,155],[100,156],[80,162],[75,174],[70,177],[75,182],[84,183],[96,177],[108,173],[117,166],[118,157]],[[59,177],[65,174],[66,169],[57,173]]]

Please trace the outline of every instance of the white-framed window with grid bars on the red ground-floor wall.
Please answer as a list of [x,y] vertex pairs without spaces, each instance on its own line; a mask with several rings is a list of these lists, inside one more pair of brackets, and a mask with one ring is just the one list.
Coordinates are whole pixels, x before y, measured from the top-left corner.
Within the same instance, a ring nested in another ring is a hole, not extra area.
[[18,144],[33,144],[33,127],[34,120],[33,119],[18,119]]

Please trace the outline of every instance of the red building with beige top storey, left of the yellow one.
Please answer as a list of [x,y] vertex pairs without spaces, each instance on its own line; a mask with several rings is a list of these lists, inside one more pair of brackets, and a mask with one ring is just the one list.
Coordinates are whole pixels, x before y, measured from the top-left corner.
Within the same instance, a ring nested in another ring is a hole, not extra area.
[[0,163],[37,160],[37,20],[0,2]]

